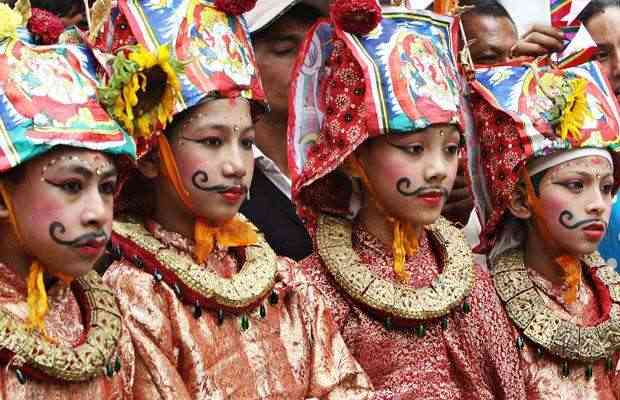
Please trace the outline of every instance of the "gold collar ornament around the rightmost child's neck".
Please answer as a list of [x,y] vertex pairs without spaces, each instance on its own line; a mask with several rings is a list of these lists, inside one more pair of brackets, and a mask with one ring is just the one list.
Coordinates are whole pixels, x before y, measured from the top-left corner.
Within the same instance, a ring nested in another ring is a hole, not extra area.
[[[562,375],[568,376],[568,360],[586,364],[607,359],[620,349],[620,275],[606,265],[598,253],[582,260],[592,268],[609,290],[609,318],[596,326],[579,326],[549,309],[539,290],[527,273],[523,251],[513,249],[500,256],[493,269],[495,289],[506,307],[510,319],[532,343],[563,360]],[[523,338],[517,338],[522,349]],[[542,351],[541,350],[541,351]],[[592,377],[592,367],[586,367],[586,377]]]

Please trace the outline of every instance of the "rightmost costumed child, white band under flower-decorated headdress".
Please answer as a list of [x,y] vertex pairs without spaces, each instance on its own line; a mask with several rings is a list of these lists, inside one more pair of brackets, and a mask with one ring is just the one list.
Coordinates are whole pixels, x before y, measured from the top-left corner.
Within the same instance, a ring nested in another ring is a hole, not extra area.
[[476,71],[468,144],[480,250],[528,399],[618,399],[620,276],[596,253],[618,185],[618,105],[598,63]]

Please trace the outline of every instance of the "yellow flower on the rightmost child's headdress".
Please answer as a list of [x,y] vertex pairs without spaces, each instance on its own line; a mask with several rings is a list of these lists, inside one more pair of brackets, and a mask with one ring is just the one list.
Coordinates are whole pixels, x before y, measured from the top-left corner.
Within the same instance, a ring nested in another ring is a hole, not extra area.
[[571,79],[569,90],[564,95],[564,107],[558,127],[559,135],[563,140],[571,135],[573,139],[581,139],[581,128],[586,117],[590,116],[587,99],[588,81],[583,78]]

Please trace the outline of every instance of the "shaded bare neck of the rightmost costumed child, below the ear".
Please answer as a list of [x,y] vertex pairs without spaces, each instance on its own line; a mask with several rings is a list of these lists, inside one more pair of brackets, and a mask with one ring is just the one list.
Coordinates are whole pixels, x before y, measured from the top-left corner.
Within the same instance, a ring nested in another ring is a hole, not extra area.
[[566,273],[555,262],[555,251],[550,251],[549,246],[538,231],[531,225],[528,226],[527,239],[525,242],[525,265],[533,269],[547,280],[553,283],[562,284],[565,281]]

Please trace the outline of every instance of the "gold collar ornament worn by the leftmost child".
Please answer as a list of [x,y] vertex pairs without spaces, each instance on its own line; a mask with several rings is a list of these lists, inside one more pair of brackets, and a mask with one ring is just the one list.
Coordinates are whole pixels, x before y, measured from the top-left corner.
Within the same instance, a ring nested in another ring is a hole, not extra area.
[[20,383],[26,382],[26,376],[53,382],[83,382],[104,373],[112,377],[120,371],[120,358],[113,357],[122,332],[114,294],[95,271],[76,279],[71,286],[85,303],[80,308],[86,335],[77,346],[53,343],[0,308],[1,358],[15,368]]

